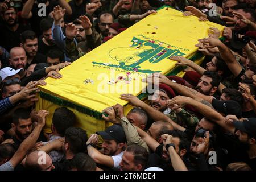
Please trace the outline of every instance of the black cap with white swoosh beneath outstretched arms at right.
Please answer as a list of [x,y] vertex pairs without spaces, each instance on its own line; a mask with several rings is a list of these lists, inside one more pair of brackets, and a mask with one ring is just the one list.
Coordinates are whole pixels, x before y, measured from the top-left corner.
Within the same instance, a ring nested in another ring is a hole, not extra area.
[[225,115],[236,115],[238,119],[242,117],[242,108],[237,101],[220,101],[217,99],[212,100],[212,106],[220,113],[224,113]]

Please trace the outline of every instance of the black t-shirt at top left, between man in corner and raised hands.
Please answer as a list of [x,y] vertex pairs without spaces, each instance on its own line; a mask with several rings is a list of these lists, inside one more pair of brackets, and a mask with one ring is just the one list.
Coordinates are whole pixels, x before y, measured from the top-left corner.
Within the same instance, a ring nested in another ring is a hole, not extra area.
[[[51,11],[53,11],[53,8],[57,5],[59,5],[59,2],[49,1],[49,5],[46,6],[46,17],[48,16],[49,13],[51,13]],[[32,17],[30,19],[31,28],[38,36],[40,36],[42,34],[42,31],[40,30],[40,22],[42,19],[46,18],[45,16],[42,16],[42,17],[38,16],[38,12],[41,8],[42,7],[40,7],[40,8],[38,7],[37,3],[34,3],[32,10],[31,10]]]

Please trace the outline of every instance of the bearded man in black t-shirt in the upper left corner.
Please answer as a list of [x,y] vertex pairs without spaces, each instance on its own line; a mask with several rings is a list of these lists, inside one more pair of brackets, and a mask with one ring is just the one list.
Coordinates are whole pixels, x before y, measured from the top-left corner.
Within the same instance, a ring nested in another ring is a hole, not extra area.
[[8,52],[11,48],[20,44],[20,34],[23,31],[30,30],[29,27],[18,23],[18,16],[14,7],[3,9],[3,24],[0,24],[0,45]]

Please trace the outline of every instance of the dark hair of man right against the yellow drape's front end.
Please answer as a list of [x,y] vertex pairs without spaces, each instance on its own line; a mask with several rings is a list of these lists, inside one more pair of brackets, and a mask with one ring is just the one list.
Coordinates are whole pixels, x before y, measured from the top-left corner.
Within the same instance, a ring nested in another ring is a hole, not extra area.
[[67,107],[59,107],[53,113],[52,123],[61,137],[64,137],[65,131],[73,126],[75,121],[75,114]]

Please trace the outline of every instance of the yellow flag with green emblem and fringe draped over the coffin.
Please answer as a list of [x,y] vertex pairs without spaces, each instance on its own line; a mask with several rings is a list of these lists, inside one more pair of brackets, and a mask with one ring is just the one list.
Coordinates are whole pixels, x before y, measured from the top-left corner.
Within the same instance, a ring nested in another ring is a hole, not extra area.
[[181,71],[170,56],[200,59],[195,44],[208,36],[209,27],[223,29],[163,8],[61,69],[61,79],[47,78],[47,85],[40,86],[36,110],[51,113],[46,131],[51,132],[52,114],[60,106],[71,109],[77,115],[76,126],[88,134],[105,130],[108,125],[101,111],[117,103],[126,105],[127,101],[119,99],[120,94],[141,94],[146,87],[141,79],[148,74],[177,75]]

